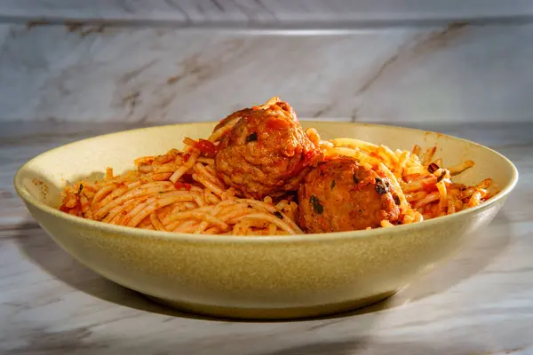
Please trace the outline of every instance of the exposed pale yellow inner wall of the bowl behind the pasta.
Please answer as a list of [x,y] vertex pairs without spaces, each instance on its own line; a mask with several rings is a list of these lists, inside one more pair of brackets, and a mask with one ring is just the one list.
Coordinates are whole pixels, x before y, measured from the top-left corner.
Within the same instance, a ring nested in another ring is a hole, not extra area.
[[[444,166],[473,160],[473,169],[455,177],[455,181],[473,185],[491,177],[500,189],[512,187],[516,181],[513,164],[496,152],[475,143],[446,135],[394,126],[362,123],[302,122],[314,127],[322,138],[358,138],[391,149],[423,149],[437,146],[435,158]],[[103,177],[106,168],[115,174],[133,168],[133,160],[144,155],[164,154],[171,148],[181,148],[183,138],[207,138],[214,123],[190,123],[129,130],[84,139],[60,146],[38,155],[17,174],[15,184],[22,193],[50,207],[58,207],[60,193],[69,182],[91,176]]]

